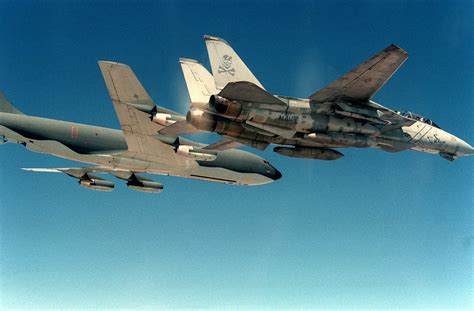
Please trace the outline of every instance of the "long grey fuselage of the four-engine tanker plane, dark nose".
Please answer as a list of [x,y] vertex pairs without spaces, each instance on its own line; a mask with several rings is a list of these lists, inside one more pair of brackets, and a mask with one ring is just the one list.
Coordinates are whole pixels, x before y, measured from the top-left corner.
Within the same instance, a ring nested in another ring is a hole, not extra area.
[[[157,161],[152,161],[129,155],[121,130],[0,112],[0,142],[18,142],[32,151],[70,160],[111,169],[245,185],[265,183],[281,177],[280,172],[267,161],[243,150],[202,150],[205,145],[183,138],[179,139],[180,144],[175,147],[172,143],[176,137],[157,137],[157,140],[163,142],[163,154],[166,152],[167,158],[157,154],[153,158]],[[170,153],[168,149],[176,150]],[[170,165],[173,161],[176,167]],[[221,175],[225,178],[212,177]],[[89,188],[107,187],[100,183],[84,181],[81,185]],[[156,190],[154,188],[151,190]]]

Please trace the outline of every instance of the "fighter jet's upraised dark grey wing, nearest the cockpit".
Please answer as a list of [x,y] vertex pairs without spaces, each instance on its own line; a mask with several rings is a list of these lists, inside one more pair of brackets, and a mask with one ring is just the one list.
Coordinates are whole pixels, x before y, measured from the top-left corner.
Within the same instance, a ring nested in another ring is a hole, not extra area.
[[382,88],[407,58],[407,52],[392,44],[317,91],[309,99],[318,102],[335,99],[367,101]]

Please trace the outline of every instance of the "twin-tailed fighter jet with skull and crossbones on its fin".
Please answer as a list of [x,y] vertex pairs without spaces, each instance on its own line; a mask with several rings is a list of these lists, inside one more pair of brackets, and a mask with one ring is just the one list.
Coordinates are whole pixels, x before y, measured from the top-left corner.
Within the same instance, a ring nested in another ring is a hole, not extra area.
[[269,94],[223,39],[204,37],[212,75],[196,60],[180,59],[191,98],[185,121],[163,132],[195,129],[215,132],[223,140],[205,149],[239,145],[281,155],[335,160],[335,148],[375,147],[389,152],[407,149],[435,153],[453,161],[474,149],[431,120],[386,108],[372,97],[408,58],[390,45],[309,99]]

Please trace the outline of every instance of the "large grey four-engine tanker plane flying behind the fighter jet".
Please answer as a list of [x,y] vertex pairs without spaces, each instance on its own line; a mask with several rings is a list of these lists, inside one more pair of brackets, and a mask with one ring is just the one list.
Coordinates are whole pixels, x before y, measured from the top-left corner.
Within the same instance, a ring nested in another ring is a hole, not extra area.
[[96,173],[114,175],[143,192],[161,192],[163,185],[141,173],[239,185],[281,177],[268,161],[252,153],[204,150],[203,144],[158,134],[164,125],[184,116],[155,105],[129,66],[107,61],[99,66],[122,131],[27,116],[0,93],[0,143],[20,143],[32,151],[96,165],[27,170],[62,172],[81,186],[103,191],[113,190],[114,183]]

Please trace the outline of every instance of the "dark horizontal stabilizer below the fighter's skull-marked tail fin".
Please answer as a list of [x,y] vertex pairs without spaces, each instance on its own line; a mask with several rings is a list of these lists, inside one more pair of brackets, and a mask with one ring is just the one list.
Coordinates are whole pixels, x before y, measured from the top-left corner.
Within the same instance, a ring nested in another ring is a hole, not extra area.
[[227,84],[225,88],[219,93],[219,96],[230,100],[287,107],[284,102],[282,102],[272,94],[268,93],[259,86],[246,81],[232,82]]

